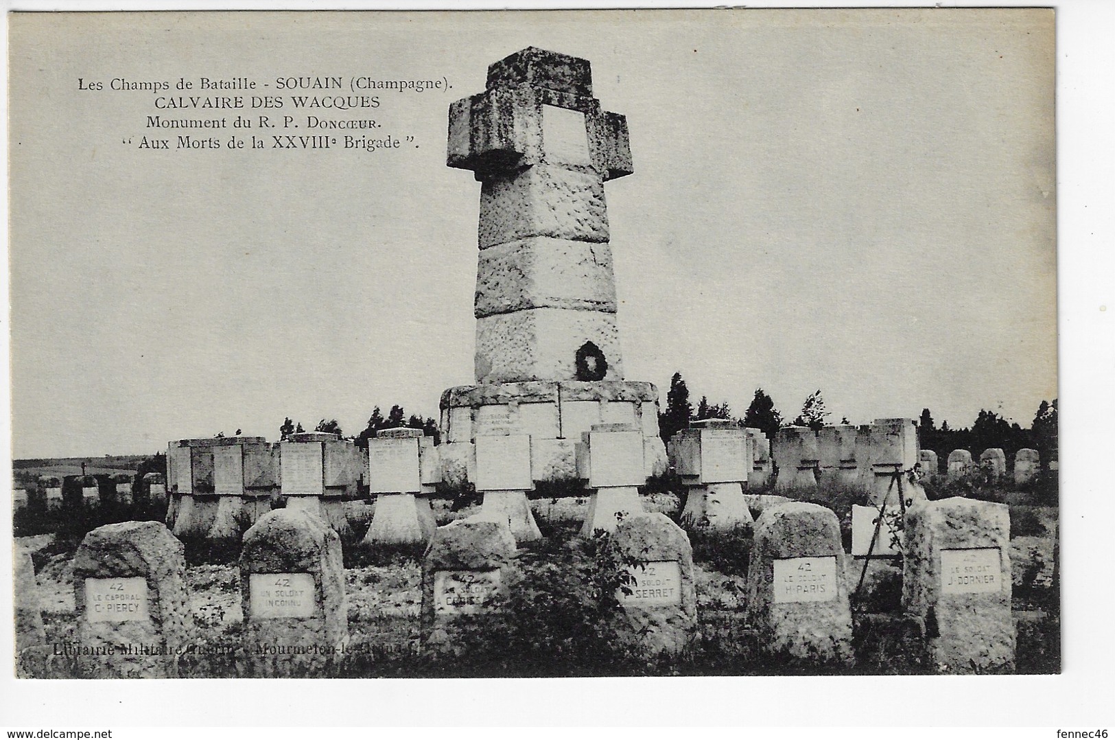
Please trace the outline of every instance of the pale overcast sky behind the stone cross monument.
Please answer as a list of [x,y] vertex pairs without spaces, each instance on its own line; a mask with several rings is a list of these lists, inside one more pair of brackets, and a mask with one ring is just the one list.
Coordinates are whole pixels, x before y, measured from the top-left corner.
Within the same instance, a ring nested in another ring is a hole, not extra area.
[[[14,457],[436,416],[473,379],[479,196],[446,109],[526,46],[591,60],[628,116],[620,339],[663,403],[675,371],[853,423],[1028,426],[1056,396],[1050,11],[52,15],[12,20]],[[414,137],[391,152],[154,152],[147,115],[202,114],[77,81],[203,76],[452,89],[336,116]]]

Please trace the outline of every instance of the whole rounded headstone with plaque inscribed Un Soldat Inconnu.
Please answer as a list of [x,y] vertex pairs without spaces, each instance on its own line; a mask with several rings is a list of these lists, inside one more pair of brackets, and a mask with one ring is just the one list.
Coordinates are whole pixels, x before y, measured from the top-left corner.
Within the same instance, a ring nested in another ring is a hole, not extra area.
[[258,675],[319,673],[348,642],[341,540],[318,517],[277,509],[252,525],[240,590],[243,647]]

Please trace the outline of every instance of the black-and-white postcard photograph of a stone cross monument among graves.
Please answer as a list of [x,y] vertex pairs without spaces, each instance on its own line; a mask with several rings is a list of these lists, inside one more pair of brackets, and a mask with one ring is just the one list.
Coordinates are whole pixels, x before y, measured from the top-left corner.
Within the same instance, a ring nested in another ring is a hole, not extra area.
[[1058,12],[16,8],[4,673],[1058,680]]

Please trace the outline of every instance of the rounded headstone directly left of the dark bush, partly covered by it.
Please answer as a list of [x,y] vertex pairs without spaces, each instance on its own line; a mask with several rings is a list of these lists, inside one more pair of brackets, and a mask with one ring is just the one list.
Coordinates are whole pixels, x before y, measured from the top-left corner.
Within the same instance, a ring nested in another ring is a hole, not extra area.
[[469,518],[437,528],[423,558],[421,640],[426,650],[463,650],[457,618],[497,608],[514,554],[515,537],[505,521]]

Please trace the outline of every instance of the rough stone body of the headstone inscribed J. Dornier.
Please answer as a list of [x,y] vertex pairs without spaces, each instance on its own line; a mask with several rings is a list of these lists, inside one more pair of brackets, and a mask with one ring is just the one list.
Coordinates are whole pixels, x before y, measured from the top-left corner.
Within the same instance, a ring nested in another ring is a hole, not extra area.
[[[925,621],[929,667],[941,673],[1012,671],[1007,504],[959,497],[924,501],[906,511],[905,536],[902,606]],[[999,587],[993,592],[946,593],[946,583],[957,574],[943,571],[942,550],[973,548],[998,550],[999,573],[978,578],[996,577]]]

